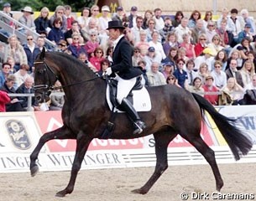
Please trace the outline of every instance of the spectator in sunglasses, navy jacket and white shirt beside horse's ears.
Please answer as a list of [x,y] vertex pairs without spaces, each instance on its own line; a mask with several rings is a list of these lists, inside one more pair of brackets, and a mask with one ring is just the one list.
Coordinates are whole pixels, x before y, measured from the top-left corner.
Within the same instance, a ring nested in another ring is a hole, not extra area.
[[41,52],[39,47],[37,47],[37,45],[34,44],[33,34],[27,34],[27,44],[24,44],[24,51],[28,58],[29,71],[32,72],[34,60],[36,56]]

